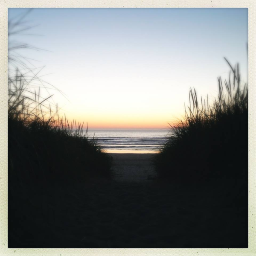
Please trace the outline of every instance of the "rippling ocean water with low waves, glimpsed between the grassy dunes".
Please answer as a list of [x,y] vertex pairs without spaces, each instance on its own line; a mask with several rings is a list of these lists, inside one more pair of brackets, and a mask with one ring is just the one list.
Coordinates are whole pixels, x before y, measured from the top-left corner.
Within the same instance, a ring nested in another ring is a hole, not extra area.
[[89,129],[88,137],[94,137],[108,153],[157,153],[168,132],[167,129]]

